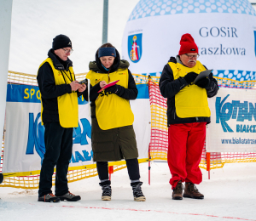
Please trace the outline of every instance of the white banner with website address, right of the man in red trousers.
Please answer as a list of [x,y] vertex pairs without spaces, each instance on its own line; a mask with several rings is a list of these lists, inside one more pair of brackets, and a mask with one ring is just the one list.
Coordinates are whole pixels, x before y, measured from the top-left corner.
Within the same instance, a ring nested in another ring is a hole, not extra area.
[[208,102],[207,152],[256,152],[256,90],[219,88]]

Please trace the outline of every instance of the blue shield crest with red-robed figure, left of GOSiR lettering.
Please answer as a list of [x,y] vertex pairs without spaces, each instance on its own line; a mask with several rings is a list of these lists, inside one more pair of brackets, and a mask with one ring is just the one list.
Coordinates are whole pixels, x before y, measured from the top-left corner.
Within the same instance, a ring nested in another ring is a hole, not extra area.
[[133,63],[137,63],[143,54],[143,34],[128,36],[128,55]]

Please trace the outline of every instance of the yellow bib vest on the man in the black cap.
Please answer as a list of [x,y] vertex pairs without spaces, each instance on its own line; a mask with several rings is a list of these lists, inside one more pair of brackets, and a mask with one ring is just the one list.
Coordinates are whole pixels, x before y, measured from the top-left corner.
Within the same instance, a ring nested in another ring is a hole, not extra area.
[[[61,84],[69,84],[71,81],[68,77],[71,76],[74,80],[74,73],[73,73],[73,67],[69,67],[69,71],[62,71],[63,76],[65,77],[66,82],[64,81],[64,78],[61,74],[60,70],[56,70],[55,66],[50,58],[45,59],[44,62],[39,66],[39,68],[44,65],[45,62],[48,62],[49,65],[52,68],[52,71],[54,73],[55,77],[55,85],[61,85]],[[65,73],[64,73],[65,72]],[[67,77],[68,76],[68,77]],[[78,101],[78,94],[76,92],[73,92],[71,94],[63,94],[57,98],[58,100],[58,111],[59,111],[59,120],[61,127],[79,127],[79,101]],[[43,124],[43,102],[41,99],[41,120]]]

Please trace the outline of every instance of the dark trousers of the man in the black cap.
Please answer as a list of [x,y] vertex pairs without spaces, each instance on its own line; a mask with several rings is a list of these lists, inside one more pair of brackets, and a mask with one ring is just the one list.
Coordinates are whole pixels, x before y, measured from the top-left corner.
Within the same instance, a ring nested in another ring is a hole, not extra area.
[[44,124],[45,154],[41,167],[38,195],[52,193],[52,175],[56,166],[55,195],[68,192],[67,169],[72,156],[73,127],[61,127],[59,122]]

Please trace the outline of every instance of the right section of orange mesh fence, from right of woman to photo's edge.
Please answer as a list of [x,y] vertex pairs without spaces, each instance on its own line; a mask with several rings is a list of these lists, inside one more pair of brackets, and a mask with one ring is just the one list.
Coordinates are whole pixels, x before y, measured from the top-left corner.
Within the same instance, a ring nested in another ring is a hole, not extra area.
[[[215,77],[219,87],[225,88],[250,88],[255,89],[256,81],[239,82],[227,78]],[[149,154],[151,161],[167,161],[168,150],[168,128],[166,110],[167,99],[160,94],[160,77],[149,77],[149,101],[151,107],[151,139],[149,144]],[[252,162],[256,161],[256,153],[241,152],[211,152],[210,169],[224,167],[229,162]],[[200,167],[207,169],[206,145],[204,146]]]

